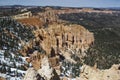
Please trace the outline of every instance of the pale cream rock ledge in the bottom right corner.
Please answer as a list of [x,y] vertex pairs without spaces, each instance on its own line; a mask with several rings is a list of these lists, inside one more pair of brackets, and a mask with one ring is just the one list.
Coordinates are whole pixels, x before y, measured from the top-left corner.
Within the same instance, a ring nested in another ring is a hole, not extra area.
[[120,80],[120,64],[105,70],[84,65],[78,80]]

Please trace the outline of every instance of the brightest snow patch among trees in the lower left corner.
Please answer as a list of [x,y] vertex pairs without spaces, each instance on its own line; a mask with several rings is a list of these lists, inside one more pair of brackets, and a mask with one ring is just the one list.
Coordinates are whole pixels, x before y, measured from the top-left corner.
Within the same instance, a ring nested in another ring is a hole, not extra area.
[[[4,77],[7,80],[22,80],[26,71],[18,67],[27,64],[25,61],[27,57],[16,57],[13,53],[10,53],[11,60],[8,56],[4,56],[4,53],[5,50],[0,50],[0,77]],[[18,61],[15,58],[18,58]]]

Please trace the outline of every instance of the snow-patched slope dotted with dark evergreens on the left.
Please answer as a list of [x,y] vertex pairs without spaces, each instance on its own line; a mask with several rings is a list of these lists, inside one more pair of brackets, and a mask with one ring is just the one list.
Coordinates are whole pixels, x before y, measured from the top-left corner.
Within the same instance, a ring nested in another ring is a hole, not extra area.
[[[32,29],[28,28],[10,17],[0,18],[0,76],[7,80],[21,80],[25,74],[24,65],[27,57],[19,52],[33,38]],[[30,65],[31,66],[31,65]]]

